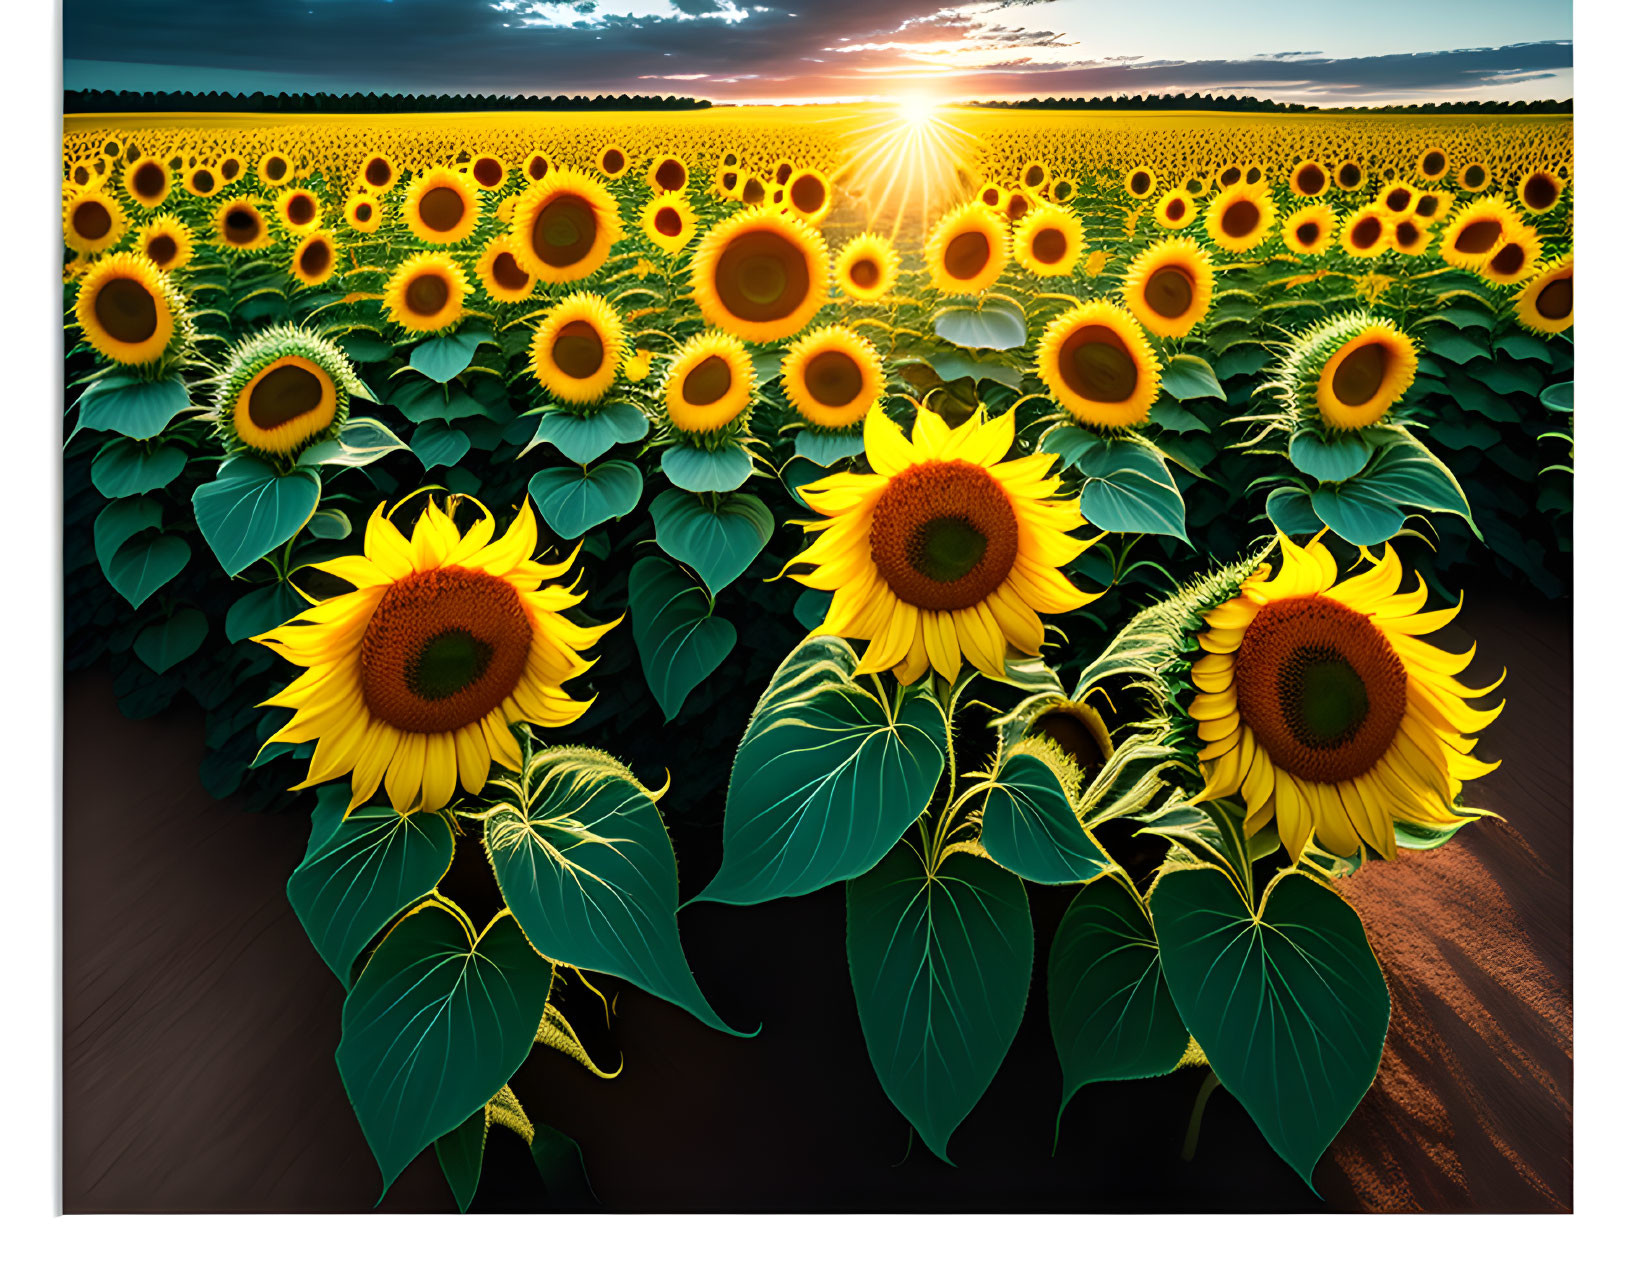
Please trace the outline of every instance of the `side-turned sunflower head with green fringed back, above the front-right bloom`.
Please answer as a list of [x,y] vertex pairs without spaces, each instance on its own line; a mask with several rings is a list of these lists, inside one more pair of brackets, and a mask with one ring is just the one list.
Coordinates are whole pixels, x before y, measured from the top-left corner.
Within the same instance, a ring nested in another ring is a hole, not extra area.
[[1419,356],[1393,322],[1351,312],[1295,337],[1267,384],[1287,427],[1349,432],[1380,423],[1414,381]]

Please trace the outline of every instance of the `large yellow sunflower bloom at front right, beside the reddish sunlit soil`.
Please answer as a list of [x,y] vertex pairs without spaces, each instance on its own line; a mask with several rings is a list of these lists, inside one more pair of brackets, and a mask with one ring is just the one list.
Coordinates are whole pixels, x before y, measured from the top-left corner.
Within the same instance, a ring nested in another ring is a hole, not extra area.
[[1498,767],[1472,750],[1503,703],[1472,708],[1498,683],[1473,690],[1454,677],[1475,649],[1455,656],[1422,641],[1458,607],[1421,611],[1422,577],[1398,592],[1403,567],[1388,544],[1339,580],[1321,538],[1277,543],[1277,575],[1259,566],[1203,616],[1187,710],[1203,742],[1194,801],[1241,795],[1246,834],[1275,821],[1295,860],[1313,837],[1342,857],[1364,845],[1395,857],[1398,821],[1468,821],[1455,796]]

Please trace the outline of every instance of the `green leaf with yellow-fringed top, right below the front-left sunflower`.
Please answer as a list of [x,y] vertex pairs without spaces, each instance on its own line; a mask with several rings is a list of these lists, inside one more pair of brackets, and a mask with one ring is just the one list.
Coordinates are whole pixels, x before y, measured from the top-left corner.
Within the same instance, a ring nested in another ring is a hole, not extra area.
[[623,978],[737,1035],[682,953],[675,853],[654,796],[629,768],[602,750],[548,749],[502,788],[515,799],[486,813],[482,844],[535,950]]

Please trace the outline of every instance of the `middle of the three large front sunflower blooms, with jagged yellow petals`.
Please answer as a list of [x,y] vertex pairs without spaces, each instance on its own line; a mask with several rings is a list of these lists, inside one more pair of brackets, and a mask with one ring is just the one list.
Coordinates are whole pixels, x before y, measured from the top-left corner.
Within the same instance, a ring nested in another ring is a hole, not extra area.
[[811,571],[791,579],[834,590],[813,633],[868,639],[858,674],[889,669],[911,683],[929,664],[955,682],[963,657],[1004,677],[1009,649],[1040,654],[1041,611],[1095,600],[1059,571],[1094,541],[1068,535],[1084,518],[1056,497],[1056,456],[1001,463],[1014,437],[1014,410],[978,409],[948,428],[921,407],[906,438],[875,405],[863,420],[871,472],[801,487],[819,535],[790,562]]

